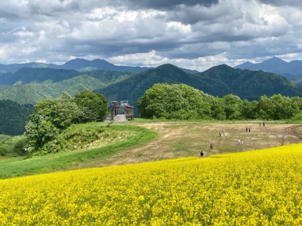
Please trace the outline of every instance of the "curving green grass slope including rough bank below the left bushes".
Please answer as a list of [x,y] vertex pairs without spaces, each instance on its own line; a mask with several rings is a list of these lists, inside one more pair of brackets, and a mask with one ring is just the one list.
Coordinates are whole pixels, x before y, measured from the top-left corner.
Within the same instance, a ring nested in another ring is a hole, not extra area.
[[[91,126],[96,125],[94,123]],[[106,130],[107,134],[112,136],[98,140],[86,149],[34,156],[29,159],[3,157],[0,159],[0,178],[66,170],[91,159],[104,159],[120,150],[143,145],[156,137],[156,133],[151,130],[131,125],[110,126],[106,127]]]

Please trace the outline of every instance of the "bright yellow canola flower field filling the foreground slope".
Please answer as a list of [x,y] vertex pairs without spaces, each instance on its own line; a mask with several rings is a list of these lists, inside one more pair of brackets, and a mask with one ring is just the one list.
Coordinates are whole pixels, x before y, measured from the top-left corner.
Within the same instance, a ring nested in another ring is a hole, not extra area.
[[0,180],[0,225],[302,225],[302,144]]

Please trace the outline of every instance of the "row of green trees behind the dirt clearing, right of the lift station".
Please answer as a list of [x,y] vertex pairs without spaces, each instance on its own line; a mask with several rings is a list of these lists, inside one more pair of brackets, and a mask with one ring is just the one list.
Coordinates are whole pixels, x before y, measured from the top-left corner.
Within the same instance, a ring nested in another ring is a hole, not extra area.
[[234,94],[211,96],[184,84],[155,84],[138,101],[142,118],[302,120],[302,98],[275,94],[258,101]]

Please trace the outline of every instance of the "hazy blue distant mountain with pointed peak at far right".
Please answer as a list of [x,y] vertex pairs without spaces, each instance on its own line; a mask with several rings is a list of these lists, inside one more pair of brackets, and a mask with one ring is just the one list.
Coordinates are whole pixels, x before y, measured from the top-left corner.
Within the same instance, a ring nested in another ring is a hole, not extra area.
[[245,62],[235,66],[239,69],[263,70],[285,76],[288,79],[297,79],[302,77],[302,60],[293,60],[286,62],[278,57],[272,57],[261,63]]

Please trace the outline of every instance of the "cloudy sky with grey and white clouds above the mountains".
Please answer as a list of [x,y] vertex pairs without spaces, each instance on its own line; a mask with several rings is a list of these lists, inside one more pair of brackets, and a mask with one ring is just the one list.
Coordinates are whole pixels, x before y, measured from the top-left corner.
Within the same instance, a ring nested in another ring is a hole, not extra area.
[[301,0],[1,1],[0,63],[172,63],[204,71],[302,60]]

